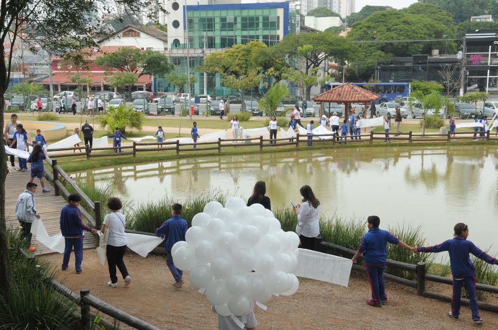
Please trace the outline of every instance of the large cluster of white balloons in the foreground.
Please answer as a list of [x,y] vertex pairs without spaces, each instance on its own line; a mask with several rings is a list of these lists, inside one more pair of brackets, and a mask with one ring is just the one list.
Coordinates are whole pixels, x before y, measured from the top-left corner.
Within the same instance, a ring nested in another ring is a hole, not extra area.
[[299,237],[284,232],[260,204],[248,207],[239,197],[225,207],[209,202],[194,216],[185,238],[171,248],[173,262],[190,270],[192,284],[206,289],[221,316],[246,315],[255,302],[263,304],[273,294],[292,295],[299,287],[292,274]]

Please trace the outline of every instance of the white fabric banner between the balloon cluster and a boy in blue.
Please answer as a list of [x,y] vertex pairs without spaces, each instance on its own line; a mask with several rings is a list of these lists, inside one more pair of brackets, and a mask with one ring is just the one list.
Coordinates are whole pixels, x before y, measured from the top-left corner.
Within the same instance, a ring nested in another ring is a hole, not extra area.
[[300,248],[297,260],[294,275],[348,286],[351,259]]

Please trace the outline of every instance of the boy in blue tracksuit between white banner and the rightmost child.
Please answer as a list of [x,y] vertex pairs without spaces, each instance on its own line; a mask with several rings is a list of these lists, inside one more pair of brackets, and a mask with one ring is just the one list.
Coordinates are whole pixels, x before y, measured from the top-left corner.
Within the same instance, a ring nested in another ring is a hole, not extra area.
[[363,236],[360,247],[351,260],[353,263],[356,263],[360,254],[363,253],[367,275],[372,288],[372,299],[367,299],[367,304],[374,307],[381,307],[382,304],[387,303],[384,284],[387,242],[408,250],[412,250],[412,248],[388,231],[378,228],[380,224],[379,217],[372,215],[368,217],[367,222],[369,231]]

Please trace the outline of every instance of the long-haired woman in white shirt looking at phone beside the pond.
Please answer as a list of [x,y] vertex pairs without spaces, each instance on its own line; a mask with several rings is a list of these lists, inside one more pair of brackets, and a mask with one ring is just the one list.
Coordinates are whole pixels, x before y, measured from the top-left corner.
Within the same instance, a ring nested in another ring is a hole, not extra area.
[[312,249],[315,238],[320,235],[318,215],[320,213],[320,201],[315,197],[309,185],[303,185],[299,190],[303,196],[303,204],[294,208],[297,216],[296,230],[299,232],[301,248]]

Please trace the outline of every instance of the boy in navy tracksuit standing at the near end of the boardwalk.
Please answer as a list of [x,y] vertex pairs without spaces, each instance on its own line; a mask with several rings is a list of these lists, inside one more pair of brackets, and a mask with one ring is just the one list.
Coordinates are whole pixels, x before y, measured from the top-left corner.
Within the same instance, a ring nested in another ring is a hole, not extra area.
[[81,197],[78,194],[70,194],[67,197],[69,204],[61,210],[60,229],[64,237],[64,257],[62,260],[62,270],[66,270],[69,264],[71,252],[74,249],[75,269],[76,273],[81,273],[81,261],[83,261],[83,230],[97,233],[95,229],[89,228],[81,220],[78,205],[80,205]]

